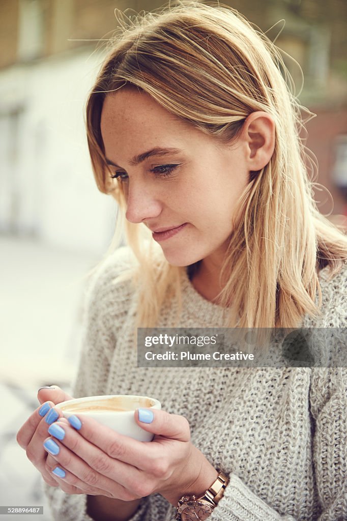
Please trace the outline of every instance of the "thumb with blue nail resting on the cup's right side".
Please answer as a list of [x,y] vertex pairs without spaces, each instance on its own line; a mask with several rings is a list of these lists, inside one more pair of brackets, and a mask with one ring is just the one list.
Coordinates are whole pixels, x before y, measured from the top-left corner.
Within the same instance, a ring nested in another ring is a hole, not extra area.
[[158,436],[178,441],[190,441],[187,418],[169,414],[157,409],[139,408],[135,411],[135,421],[144,430]]

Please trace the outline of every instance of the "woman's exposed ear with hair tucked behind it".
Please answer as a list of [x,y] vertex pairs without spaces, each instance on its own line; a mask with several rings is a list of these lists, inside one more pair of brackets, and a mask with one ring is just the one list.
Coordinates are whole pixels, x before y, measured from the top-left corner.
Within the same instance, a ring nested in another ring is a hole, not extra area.
[[274,119],[266,112],[252,112],[243,124],[242,134],[247,147],[249,170],[261,170],[269,163],[275,150]]

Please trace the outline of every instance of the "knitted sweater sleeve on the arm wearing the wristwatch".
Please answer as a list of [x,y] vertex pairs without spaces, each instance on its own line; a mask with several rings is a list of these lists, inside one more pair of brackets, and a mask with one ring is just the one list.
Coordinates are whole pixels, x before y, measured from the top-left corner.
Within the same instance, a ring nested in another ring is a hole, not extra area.
[[[343,521],[347,519],[347,369],[313,368],[309,394],[319,503],[316,511],[320,511],[312,521]],[[231,474],[224,497],[209,519],[293,521],[295,518],[273,510]]]

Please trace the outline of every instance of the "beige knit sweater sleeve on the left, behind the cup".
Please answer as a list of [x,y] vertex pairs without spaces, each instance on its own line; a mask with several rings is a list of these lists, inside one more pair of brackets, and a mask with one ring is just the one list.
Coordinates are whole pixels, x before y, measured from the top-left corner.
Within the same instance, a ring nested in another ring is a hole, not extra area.
[[[115,279],[128,267],[127,252],[121,249],[107,258],[89,280],[85,291],[82,327],[82,349],[72,395],[92,396],[106,393],[110,359],[113,354],[117,326],[129,309],[129,282],[115,284]],[[115,299],[117,304],[115,306]],[[108,303],[113,302],[115,327],[110,330]],[[108,318],[108,319],[107,319]],[[93,521],[86,513],[86,494],[67,494],[44,483],[44,491],[57,521]],[[147,499],[144,498],[129,521],[143,521]]]

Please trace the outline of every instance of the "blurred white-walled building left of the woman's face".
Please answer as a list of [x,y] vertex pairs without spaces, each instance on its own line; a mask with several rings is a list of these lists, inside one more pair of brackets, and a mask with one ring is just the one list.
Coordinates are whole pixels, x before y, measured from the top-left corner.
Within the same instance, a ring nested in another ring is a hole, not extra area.
[[72,0],[0,5],[0,232],[106,250],[116,204],[96,188],[84,129],[103,52],[94,52],[93,41],[69,39],[102,36],[113,17],[108,7]]

